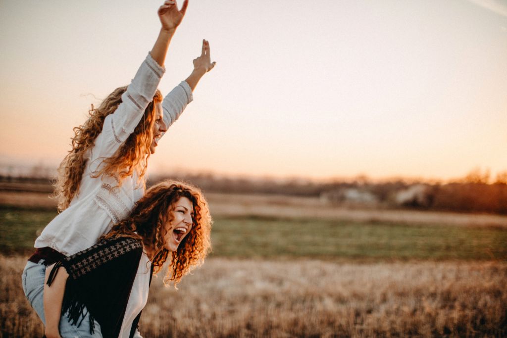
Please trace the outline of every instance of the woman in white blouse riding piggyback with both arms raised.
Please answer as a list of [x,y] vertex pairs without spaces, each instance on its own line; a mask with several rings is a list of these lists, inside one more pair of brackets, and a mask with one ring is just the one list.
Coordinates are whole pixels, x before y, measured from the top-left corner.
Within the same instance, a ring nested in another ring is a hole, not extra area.
[[[187,7],[188,0],[181,9],[176,1],[164,2],[158,9],[161,29],[155,45],[131,83],[116,89],[97,108],[92,106],[89,119],[74,128],[72,149],[59,167],[55,185],[60,213],[35,240],[36,251],[22,274],[26,298],[46,325],[48,338],[51,334],[59,336],[58,331],[62,336],[86,336],[86,332],[66,324],[68,313],[61,314],[59,327],[47,325],[44,309],[47,267],[91,247],[110,232],[113,224],[131,213],[144,194],[148,158],[167,128],[193,100],[192,92],[199,80],[215,64],[210,61],[209,43],[203,40],[201,55],[193,60],[190,76],[162,99],[157,87],[165,72],[166,53]],[[147,275],[150,274],[141,273],[133,281],[134,292],[128,297],[122,337],[132,336],[133,314],[146,303],[140,295],[147,293]],[[92,319],[86,308],[82,313],[85,322]],[[90,325],[94,324],[91,320]],[[101,336],[98,327],[95,332],[94,336]],[[138,332],[135,334],[139,336]]]

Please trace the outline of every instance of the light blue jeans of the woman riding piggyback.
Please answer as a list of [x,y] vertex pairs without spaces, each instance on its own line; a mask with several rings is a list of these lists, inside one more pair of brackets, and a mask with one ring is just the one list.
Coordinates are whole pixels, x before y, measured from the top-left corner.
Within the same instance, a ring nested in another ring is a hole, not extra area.
[[[39,262],[40,263],[40,262]],[[46,325],[46,318],[44,317],[44,279],[46,277],[46,266],[43,264],[35,264],[28,261],[23,274],[21,275],[21,281],[23,283],[23,291],[25,292],[26,299],[30,302],[31,307],[37,312],[39,318],[41,318],[44,325]],[[94,333],[90,334],[90,319],[88,311],[86,316],[81,322],[81,325],[72,325],[69,323],[68,314],[62,314],[60,318],[60,335],[62,338],[72,337],[102,337],[100,333],[100,325],[97,321],[94,321],[95,328]]]

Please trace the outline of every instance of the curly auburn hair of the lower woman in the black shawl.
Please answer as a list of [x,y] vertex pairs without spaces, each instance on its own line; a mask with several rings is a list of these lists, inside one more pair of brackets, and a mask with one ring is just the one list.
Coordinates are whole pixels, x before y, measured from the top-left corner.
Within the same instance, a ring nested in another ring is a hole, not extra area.
[[[174,204],[182,197],[192,202],[194,216],[192,228],[179,243],[175,252],[164,247],[165,224],[171,221]],[[137,202],[130,215],[116,223],[102,238],[131,237],[142,241],[158,273],[171,254],[171,263],[164,284],[174,287],[193,268],[200,266],[211,251],[211,215],[202,192],[195,186],[174,180],[165,180],[150,187]],[[172,269],[172,271],[171,271]]]

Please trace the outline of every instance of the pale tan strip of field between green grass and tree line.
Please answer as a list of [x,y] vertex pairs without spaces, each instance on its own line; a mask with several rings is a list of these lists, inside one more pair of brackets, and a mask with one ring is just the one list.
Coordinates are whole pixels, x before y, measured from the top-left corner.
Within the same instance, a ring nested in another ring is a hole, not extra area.
[[[267,216],[281,218],[343,219],[388,221],[457,226],[496,226],[507,228],[507,216],[453,212],[350,209],[331,206],[318,198],[277,195],[206,194],[213,216]],[[0,191],[0,205],[56,208],[47,193]]]

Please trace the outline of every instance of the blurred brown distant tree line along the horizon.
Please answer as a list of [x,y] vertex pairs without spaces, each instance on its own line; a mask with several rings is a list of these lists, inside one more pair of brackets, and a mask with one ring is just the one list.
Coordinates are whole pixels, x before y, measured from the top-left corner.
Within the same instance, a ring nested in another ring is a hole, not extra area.
[[[53,178],[42,177],[42,172],[48,171],[37,170],[38,175],[33,176],[0,174],[0,191],[51,193]],[[189,181],[210,193],[318,197],[323,203],[345,207],[507,214],[507,171],[497,174],[493,179],[488,171],[475,169],[463,178],[445,183],[405,179],[374,181],[366,176],[317,182],[300,178],[241,178],[209,173],[177,173],[151,175],[147,184],[151,185],[164,178]]]

